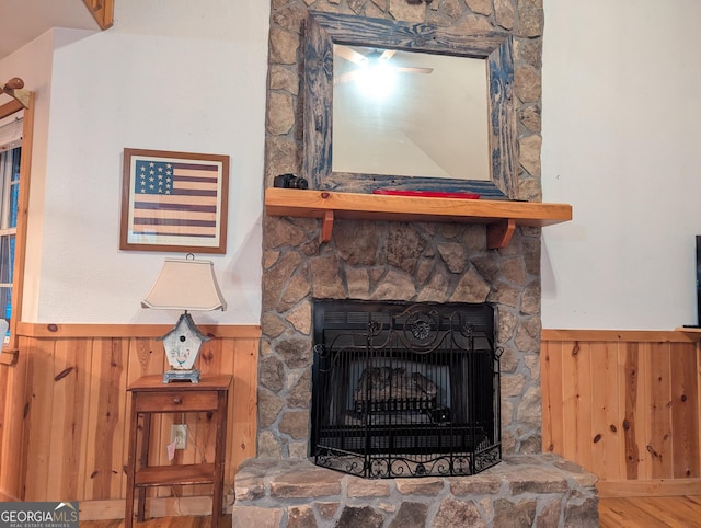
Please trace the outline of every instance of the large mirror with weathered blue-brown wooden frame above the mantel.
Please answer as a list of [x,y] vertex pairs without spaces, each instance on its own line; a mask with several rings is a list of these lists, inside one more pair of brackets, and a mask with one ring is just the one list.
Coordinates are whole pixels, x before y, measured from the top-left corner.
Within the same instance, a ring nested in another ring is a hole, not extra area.
[[[382,78],[358,99],[366,70]],[[310,12],[304,176],[310,186],[516,198],[512,37]],[[388,89],[393,92],[382,93]],[[381,96],[383,95],[383,97]]]

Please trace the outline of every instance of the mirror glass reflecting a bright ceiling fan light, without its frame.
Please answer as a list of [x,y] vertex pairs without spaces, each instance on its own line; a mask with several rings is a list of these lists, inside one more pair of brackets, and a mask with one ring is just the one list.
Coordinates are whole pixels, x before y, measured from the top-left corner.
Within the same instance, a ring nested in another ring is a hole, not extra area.
[[483,59],[333,50],[333,171],[490,180]]

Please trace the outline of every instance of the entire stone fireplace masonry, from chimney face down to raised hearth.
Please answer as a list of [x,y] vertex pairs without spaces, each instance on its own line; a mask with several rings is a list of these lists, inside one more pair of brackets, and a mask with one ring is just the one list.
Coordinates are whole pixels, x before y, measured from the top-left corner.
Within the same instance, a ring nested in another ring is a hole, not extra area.
[[[540,199],[541,0],[272,0],[265,185],[301,174],[308,10],[512,32],[518,197]],[[541,454],[540,229],[486,250],[480,225],[263,218],[258,455],[235,477],[233,526],[597,526],[596,478]],[[467,478],[374,481],[308,460],[313,298],[497,306],[504,461]]]

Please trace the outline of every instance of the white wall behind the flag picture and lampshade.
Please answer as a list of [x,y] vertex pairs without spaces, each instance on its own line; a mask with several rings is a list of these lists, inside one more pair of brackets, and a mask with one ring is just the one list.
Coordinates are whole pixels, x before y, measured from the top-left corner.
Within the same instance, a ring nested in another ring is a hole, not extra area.
[[115,3],[105,32],[54,30],[47,163],[45,177],[33,169],[31,204],[44,214],[31,220],[41,229],[31,233],[23,319],[175,320],[139,301],[163,259],[184,254],[118,249],[128,147],[231,157],[227,254],[197,255],[214,261],[229,309],[195,319],[257,324],[268,2]]

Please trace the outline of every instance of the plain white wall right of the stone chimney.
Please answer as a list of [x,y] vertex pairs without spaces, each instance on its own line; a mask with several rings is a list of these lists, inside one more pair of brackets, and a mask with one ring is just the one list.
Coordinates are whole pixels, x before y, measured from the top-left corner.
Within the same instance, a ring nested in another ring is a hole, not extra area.
[[543,328],[694,323],[701,2],[543,4]]

